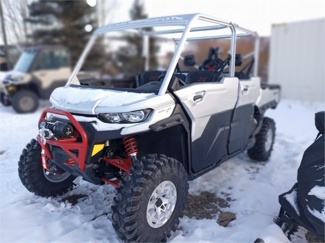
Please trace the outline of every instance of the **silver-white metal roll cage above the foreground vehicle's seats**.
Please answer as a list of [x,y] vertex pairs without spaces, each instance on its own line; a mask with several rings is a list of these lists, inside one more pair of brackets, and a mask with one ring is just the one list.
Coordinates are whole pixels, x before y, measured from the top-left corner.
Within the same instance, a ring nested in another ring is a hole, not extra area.
[[[203,26],[203,27],[192,27],[194,20],[202,20],[209,23],[213,23],[216,25],[213,26]],[[183,26],[184,28],[180,29],[170,29],[170,30],[157,30],[157,31],[141,31],[141,28],[147,27],[159,27],[159,26]],[[196,31],[206,31],[206,30],[218,30],[230,28],[231,34],[225,35],[213,35],[213,36],[201,36],[201,37],[187,37],[189,32],[196,32]],[[253,36],[255,38],[254,43],[254,51],[250,53],[249,56],[254,56],[254,69],[253,75],[257,76],[257,67],[258,67],[258,47],[259,47],[259,37],[256,32],[248,30],[246,28],[242,28],[235,23],[221,20],[215,17],[211,17],[205,14],[186,14],[186,15],[177,15],[177,16],[166,16],[166,17],[159,17],[159,18],[149,18],[149,19],[141,19],[141,20],[134,20],[134,21],[127,21],[121,22],[116,24],[108,24],[102,27],[99,27],[94,31],[92,36],[90,37],[85,49],[83,50],[80,59],[78,60],[74,71],[72,72],[66,86],[69,86],[73,80],[75,79],[77,73],[79,72],[88,52],[90,51],[91,47],[94,44],[96,37],[100,34],[113,32],[113,31],[122,31],[122,30],[132,30],[132,29],[140,29],[140,31],[136,31],[143,36],[143,53],[144,57],[148,54],[148,37],[152,35],[159,35],[159,34],[172,34],[172,33],[182,33],[180,38],[174,38],[178,45],[175,49],[174,56],[172,61],[169,65],[167,70],[166,76],[161,84],[160,90],[158,95],[163,95],[166,93],[170,79],[173,75],[173,72],[176,68],[177,62],[181,56],[181,52],[185,45],[186,41],[197,41],[200,39],[220,39],[220,38],[230,38],[230,76],[235,75],[235,54],[236,54],[236,37],[246,37],[246,36]],[[242,31],[244,33],[237,34],[237,31]]]

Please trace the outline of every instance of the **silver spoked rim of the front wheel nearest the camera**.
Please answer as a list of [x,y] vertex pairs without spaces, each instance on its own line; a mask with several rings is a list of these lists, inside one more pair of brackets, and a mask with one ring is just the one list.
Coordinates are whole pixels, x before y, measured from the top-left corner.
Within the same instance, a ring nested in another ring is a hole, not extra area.
[[152,192],[147,206],[147,221],[152,228],[167,223],[177,201],[176,186],[171,181],[161,182]]

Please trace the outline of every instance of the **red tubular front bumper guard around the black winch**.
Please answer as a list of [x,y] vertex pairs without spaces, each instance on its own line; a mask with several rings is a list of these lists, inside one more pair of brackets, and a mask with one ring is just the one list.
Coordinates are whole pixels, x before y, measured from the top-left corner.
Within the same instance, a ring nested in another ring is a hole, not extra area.
[[[79,164],[79,169],[81,171],[84,171],[85,170],[86,154],[87,154],[87,144],[88,144],[88,137],[87,137],[85,130],[81,127],[79,122],[76,120],[76,118],[70,112],[64,111],[64,110],[47,108],[43,111],[41,118],[40,118],[40,122],[47,121],[45,119],[47,113],[67,116],[68,119],[71,121],[72,125],[79,132],[79,134],[82,138],[82,142],[76,142],[77,138],[72,137],[72,138],[60,138],[60,139],[46,139],[46,143],[62,148],[66,153],[68,153],[71,156],[71,158],[73,160],[75,160]],[[37,136],[37,140],[41,144],[41,136],[40,135]],[[69,150],[78,150],[78,157],[76,157],[74,154],[72,154]],[[52,157],[49,150],[46,151],[46,155],[48,157]]]

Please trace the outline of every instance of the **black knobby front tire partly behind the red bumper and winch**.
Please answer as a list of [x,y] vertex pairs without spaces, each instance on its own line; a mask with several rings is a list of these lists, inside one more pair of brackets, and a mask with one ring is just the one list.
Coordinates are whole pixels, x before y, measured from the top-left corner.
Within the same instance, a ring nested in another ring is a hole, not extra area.
[[[69,176],[67,179],[62,177],[64,179],[62,181],[50,181],[48,179],[49,177],[44,174],[41,150],[41,145],[38,141],[32,139],[22,151],[18,162],[18,174],[22,184],[28,191],[43,197],[57,196],[68,192],[68,190],[73,188],[73,180],[75,177],[67,174],[65,176]],[[55,180],[55,175],[52,175],[52,179]]]

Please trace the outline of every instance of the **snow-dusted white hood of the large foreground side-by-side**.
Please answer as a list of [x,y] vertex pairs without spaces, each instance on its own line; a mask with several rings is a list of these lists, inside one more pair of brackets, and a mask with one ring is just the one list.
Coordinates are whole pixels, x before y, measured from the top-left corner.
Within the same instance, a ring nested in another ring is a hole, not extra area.
[[53,91],[50,102],[57,109],[81,114],[95,114],[96,107],[118,107],[154,97],[153,93],[134,93],[92,88],[60,87]]

